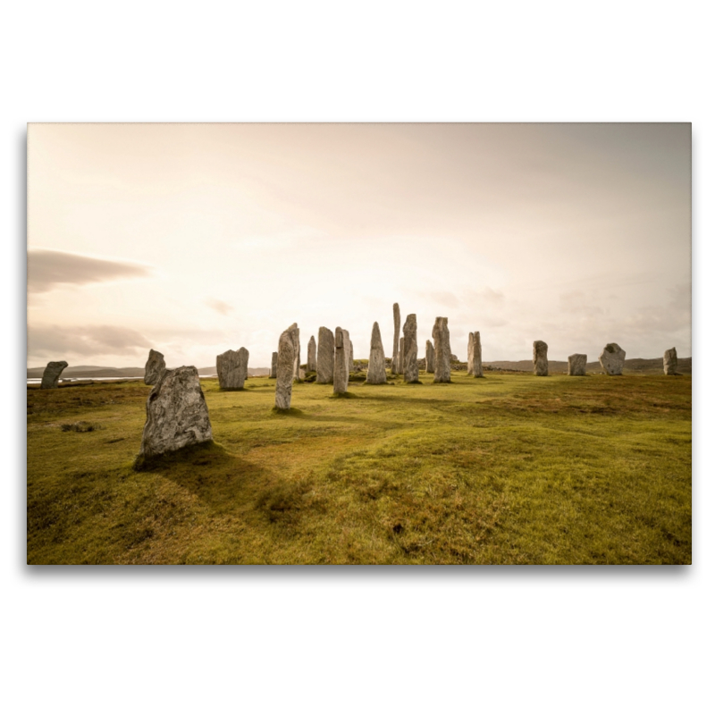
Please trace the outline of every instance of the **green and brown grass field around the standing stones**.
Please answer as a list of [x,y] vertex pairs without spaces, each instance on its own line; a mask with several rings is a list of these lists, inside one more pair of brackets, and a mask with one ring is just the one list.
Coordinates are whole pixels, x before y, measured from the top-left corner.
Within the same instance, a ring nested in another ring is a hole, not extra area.
[[28,389],[28,563],[691,562],[689,376],[420,380],[202,381],[141,472],[147,386]]

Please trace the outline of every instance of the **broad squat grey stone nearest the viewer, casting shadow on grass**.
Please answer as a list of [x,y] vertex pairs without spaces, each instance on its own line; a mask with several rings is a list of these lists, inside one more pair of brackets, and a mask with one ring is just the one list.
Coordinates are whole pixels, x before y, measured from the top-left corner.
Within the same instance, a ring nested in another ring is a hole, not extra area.
[[196,367],[165,370],[147,398],[139,457],[154,457],[213,438]]

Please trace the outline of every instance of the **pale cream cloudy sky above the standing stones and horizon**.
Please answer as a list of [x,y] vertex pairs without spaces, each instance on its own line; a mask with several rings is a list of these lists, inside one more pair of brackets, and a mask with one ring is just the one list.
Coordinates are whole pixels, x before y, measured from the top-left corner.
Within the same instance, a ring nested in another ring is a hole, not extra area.
[[28,128],[28,366],[270,366],[321,325],[391,355],[691,355],[689,123]]

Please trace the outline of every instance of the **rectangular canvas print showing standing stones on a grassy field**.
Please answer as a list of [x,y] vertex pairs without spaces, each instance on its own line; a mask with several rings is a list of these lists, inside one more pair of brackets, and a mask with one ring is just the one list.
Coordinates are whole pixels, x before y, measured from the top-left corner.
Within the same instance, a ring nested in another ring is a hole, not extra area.
[[689,564],[689,123],[31,123],[29,564]]

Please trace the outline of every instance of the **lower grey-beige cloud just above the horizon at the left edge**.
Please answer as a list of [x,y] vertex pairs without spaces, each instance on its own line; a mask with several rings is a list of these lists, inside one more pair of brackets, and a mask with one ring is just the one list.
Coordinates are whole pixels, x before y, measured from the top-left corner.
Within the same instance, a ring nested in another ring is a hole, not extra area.
[[131,328],[115,325],[39,325],[28,327],[28,355],[54,357],[66,355],[136,355],[152,347],[147,338]]

